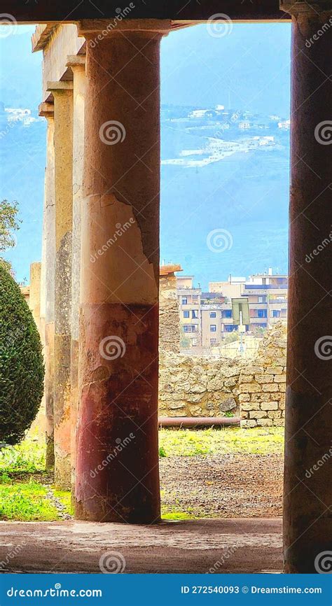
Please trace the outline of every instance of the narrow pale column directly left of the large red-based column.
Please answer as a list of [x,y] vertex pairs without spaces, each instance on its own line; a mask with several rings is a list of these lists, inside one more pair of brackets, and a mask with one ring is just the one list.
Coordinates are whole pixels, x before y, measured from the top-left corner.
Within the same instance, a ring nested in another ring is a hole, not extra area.
[[85,55],[70,55],[73,90],[73,232],[71,254],[71,488],[74,493],[78,410],[78,327],[81,266],[81,203],[84,157]]

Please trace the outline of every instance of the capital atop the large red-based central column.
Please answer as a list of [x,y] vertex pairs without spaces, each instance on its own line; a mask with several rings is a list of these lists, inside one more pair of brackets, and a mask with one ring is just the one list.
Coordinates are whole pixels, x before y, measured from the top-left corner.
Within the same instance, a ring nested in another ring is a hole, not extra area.
[[[169,19],[126,19],[116,15],[112,20],[106,19],[85,19],[77,22],[78,36],[85,38],[97,37],[102,40],[110,34],[121,34],[123,31],[134,31],[137,34],[151,34],[155,36],[167,36],[172,28],[172,21]],[[101,37],[99,37],[101,36]]]

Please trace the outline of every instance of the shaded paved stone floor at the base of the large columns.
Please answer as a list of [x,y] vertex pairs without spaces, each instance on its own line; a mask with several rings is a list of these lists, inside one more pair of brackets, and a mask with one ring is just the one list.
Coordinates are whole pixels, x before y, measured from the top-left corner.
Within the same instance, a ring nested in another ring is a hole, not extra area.
[[123,572],[282,572],[282,519],[154,526],[0,522],[1,572],[101,572],[100,566]]

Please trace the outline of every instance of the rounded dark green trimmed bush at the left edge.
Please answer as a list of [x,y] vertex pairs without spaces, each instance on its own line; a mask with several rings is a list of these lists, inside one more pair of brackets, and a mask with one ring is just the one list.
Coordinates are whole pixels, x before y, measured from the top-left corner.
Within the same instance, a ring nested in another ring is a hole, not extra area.
[[18,444],[43,396],[41,339],[20,287],[0,265],[0,442]]

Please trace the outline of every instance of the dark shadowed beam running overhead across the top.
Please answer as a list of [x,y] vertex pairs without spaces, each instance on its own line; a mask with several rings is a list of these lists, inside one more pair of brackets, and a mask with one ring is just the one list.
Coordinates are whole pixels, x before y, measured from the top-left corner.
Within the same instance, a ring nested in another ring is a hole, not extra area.
[[[132,8],[130,5],[134,5]],[[224,13],[233,20],[279,20],[284,15],[279,10],[278,0],[172,0],[163,2],[127,3],[131,9],[127,19],[171,19],[204,21],[212,15]],[[49,23],[75,22],[82,19],[115,18],[118,0],[99,0],[98,3],[59,0],[48,3],[23,3],[22,0],[0,0],[0,12],[10,13],[18,22]]]

